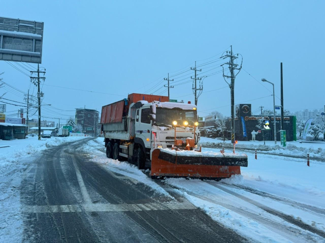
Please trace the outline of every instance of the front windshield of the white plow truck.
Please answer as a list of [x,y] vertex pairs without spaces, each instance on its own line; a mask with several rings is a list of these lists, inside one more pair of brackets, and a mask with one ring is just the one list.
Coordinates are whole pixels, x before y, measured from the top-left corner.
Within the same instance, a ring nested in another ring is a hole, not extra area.
[[197,115],[194,110],[182,110],[182,109],[156,109],[156,124],[172,125],[176,120],[178,124],[182,124],[183,121],[188,121],[188,125],[193,126],[197,121]]

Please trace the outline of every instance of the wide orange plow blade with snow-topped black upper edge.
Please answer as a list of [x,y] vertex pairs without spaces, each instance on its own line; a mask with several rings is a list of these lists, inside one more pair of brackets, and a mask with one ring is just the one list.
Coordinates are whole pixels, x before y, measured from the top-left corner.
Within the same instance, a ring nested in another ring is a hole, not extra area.
[[229,178],[232,175],[240,175],[240,167],[247,167],[247,165],[246,154],[156,148],[152,151],[151,178]]

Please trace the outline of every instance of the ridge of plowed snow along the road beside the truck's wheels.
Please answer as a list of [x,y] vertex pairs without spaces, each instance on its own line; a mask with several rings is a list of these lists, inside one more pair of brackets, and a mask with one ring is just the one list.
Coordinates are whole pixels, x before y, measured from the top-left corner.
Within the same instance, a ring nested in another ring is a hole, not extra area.
[[104,151],[94,150],[94,148],[100,150],[105,149],[103,138],[97,139],[95,141],[91,140],[86,145],[80,147],[80,149],[84,152],[91,151],[91,154],[88,154],[91,158],[91,161],[102,164],[105,170],[109,172],[117,173],[135,179],[136,181],[149,186],[155,192],[173,198],[165,189],[157,185],[153,180],[151,180],[149,177],[147,177],[146,174],[143,173],[143,170],[139,170],[135,165],[131,165],[124,161],[107,158]]

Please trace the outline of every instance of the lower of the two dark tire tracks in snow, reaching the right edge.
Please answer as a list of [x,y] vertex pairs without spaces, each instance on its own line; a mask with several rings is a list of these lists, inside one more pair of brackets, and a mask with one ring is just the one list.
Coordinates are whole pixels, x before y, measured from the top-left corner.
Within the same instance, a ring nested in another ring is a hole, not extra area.
[[321,231],[319,229],[316,229],[316,228],[314,228],[314,227],[312,227],[312,226],[310,226],[308,224],[305,224],[301,220],[295,219],[292,216],[289,216],[289,215],[283,214],[283,213],[281,213],[281,212],[279,212],[277,210],[271,209],[271,208],[269,208],[269,207],[267,207],[267,206],[265,206],[265,205],[263,205],[261,203],[258,203],[255,200],[252,200],[252,199],[250,199],[250,198],[248,198],[246,196],[238,194],[237,192],[234,192],[232,190],[226,189],[226,188],[224,188],[224,186],[216,185],[216,184],[211,183],[211,182],[207,182],[207,183],[214,186],[214,187],[216,187],[216,188],[218,188],[218,189],[220,189],[220,190],[223,190],[226,193],[232,194],[233,196],[236,196],[236,197],[238,197],[238,198],[240,198],[240,199],[242,199],[244,201],[247,201],[247,203],[252,204],[252,205],[256,206],[257,208],[260,208],[260,209],[262,209],[262,210],[264,210],[264,211],[266,211],[266,212],[268,212],[268,213],[270,213],[270,214],[272,214],[274,216],[277,216],[277,217],[279,217],[279,218],[281,218],[281,219],[283,219],[283,220],[285,220],[285,221],[287,221],[287,222],[289,222],[291,224],[294,224],[294,225],[296,225],[296,226],[298,226],[298,227],[300,227],[302,229],[308,230],[308,231],[310,231],[310,232],[312,232],[314,234],[318,234],[319,236],[325,238],[325,232],[323,232],[323,231]]

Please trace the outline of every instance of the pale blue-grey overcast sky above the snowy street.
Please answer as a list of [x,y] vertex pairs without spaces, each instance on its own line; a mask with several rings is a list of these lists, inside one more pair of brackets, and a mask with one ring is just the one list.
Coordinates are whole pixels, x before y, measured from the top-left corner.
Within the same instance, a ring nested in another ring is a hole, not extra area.
[[[231,45],[243,56],[235,103],[251,103],[258,114],[261,105],[273,107],[272,86],[261,78],[275,84],[280,105],[280,62],[285,109],[325,105],[324,7],[324,1],[3,1],[1,16],[44,22],[43,102],[52,104],[43,109],[44,116],[66,119],[84,106],[101,111],[129,93],[167,95],[161,87],[168,72],[180,73],[172,77],[170,98],[193,103],[189,81],[194,71],[188,70],[194,61],[204,65],[201,76],[222,70],[226,59],[218,58]],[[27,93],[26,75],[5,61],[0,72],[4,82]],[[222,72],[205,78],[203,88],[199,115],[213,110],[230,115],[230,89]],[[0,90],[9,91],[5,98],[23,102],[22,93],[6,89]],[[8,111],[18,108],[7,106]]]

